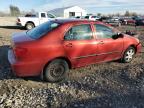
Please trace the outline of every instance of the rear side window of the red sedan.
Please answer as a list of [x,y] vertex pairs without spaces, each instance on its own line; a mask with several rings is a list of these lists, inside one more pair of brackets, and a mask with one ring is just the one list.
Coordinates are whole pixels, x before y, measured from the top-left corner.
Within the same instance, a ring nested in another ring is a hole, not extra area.
[[89,24],[73,26],[64,36],[64,40],[89,40],[92,38]]

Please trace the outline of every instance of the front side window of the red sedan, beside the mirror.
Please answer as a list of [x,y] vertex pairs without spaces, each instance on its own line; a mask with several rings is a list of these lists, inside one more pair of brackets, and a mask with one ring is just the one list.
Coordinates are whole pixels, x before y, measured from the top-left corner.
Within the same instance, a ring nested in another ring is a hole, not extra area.
[[94,26],[98,39],[112,38],[112,36],[114,35],[113,30],[107,26],[101,24],[95,24]]

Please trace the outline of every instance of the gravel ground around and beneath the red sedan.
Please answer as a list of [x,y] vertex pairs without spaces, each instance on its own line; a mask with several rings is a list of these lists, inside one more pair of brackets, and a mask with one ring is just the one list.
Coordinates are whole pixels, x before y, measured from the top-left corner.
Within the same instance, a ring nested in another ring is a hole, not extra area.
[[[144,28],[137,30],[144,43]],[[0,108],[144,108],[144,53],[131,63],[108,62],[73,69],[60,83],[37,77],[18,78],[7,50],[15,27],[0,28]]]

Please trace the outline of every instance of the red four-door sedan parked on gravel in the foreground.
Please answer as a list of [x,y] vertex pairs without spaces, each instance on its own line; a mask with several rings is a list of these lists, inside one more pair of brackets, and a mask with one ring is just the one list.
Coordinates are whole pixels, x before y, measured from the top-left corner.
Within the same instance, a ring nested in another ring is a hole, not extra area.
[[61,19],[14,34],[8,59],[17,76],[57,82],[70,68],[112,60],[128,63],[140,51],[137,38],[102,22]]

